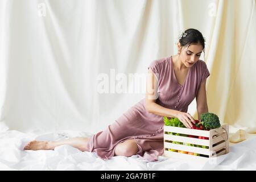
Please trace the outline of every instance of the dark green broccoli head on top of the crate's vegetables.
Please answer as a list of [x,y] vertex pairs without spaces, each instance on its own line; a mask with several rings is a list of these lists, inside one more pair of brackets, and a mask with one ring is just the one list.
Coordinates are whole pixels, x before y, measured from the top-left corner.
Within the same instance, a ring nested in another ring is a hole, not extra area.
[[[216,129],[221,126],[218,116],[213,113],[201,114],[201,122],[200,123],[204,126],[204,129],[206,129],[206,130]],[[200,124],[200,123],[197,123],[197,124]]]

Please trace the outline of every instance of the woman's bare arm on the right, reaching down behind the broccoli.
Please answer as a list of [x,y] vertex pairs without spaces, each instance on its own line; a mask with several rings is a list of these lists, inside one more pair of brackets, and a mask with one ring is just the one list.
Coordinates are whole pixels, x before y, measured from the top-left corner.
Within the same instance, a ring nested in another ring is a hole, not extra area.
[[208,113],[208,105],[207,105],[207,94],[206,94],[206,79],[201,82],[199,91],[196,96],[196,104],[197,104],[197,115],[198,119],[201,120],[201,114]]

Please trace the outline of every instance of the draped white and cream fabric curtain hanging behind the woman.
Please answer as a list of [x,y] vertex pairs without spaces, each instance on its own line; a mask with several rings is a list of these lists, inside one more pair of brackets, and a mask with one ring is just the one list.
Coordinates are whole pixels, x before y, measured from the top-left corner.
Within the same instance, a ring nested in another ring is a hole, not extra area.
[[[175,55],[187,28],[207,39],[209,111],[255,127],[254,0],[0,0],[0,126],[104,130],[144,97],[129,73]],[[104,74],[109,93],[98,92]],[[111,92],[118,74],[131,92]],[[195,101],[188,112],[197,118]]]

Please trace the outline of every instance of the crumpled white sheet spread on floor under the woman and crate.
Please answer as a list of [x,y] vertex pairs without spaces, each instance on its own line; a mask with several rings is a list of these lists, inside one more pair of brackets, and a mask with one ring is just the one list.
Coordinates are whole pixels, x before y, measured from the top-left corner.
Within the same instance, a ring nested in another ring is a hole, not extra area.
[[81,152],[71,146],[59,146],[55,150],[23,151],[24,145],[33,139],[60,140],[88,134],[59,133],[24,134],[9,130],[0,133],[1,170],[255,170],[256,136],[230,147],[229,154],[213,161],[197,163],[160,156],[158,162],[147,162],[137,156],[114,156],[102,160],[93,152]]

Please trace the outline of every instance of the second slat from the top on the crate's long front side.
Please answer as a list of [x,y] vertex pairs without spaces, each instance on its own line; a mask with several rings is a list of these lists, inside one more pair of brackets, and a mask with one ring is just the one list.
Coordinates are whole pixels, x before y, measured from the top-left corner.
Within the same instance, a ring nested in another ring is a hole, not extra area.
[[191,138],[191,137],[182,137],[182,136],[169,135],[169,134],[164,134],[164,140],[171,140],[171,141],[176,141],[176,142],[199,144],[201,146],[209,146],[209,140],[198,139],[198,138]]

